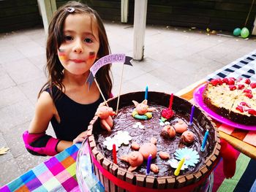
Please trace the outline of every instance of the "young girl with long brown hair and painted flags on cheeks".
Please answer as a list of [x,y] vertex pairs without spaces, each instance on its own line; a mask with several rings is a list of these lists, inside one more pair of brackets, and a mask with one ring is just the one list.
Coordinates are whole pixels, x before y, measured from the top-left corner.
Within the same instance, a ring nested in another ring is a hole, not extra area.
[[[29,131],[23,133],[26,149],[33,155],[56,155],[82,142],[86,129],[103,101],[97,85],[86,79],[97,59],[110,53],[108,38],[97,12],[71,1],[53,15],[48,28],[48,82],[39,91]],[[110,96],[110,65],[96,74],[105,98]],[[49,122],[57,138],[45,134]]]

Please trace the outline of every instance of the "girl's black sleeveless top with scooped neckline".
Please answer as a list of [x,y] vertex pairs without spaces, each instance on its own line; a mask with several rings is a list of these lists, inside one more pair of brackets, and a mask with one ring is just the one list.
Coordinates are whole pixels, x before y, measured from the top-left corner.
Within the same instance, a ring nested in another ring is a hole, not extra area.
[[[50,88],[46,88],[45,91],[50,93]],[[59,92],[58,88],[53,86],[53,96],[57,92]],[[99,96],[99,99],[94,103],[79,104],[61,92],[61,96],[54,101],[61,122],[58,123],[54,116],[50,120],[56,137],[61,140],[72,141],[80,133],[86,131],[99,104],[102,102],[102,96]]]

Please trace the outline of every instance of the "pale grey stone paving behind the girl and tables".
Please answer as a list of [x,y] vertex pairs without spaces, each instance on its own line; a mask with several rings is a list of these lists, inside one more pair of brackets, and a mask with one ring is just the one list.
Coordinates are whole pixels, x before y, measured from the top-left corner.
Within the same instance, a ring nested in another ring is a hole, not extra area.
[[[133,29],[127,24],[105,23],[112,53],[132,56]],[[34,115],[37,93],[45,83],[45,31],[29,28],[0,34],[0,186],[49,157],[30,155],[22,133]],[[241,39],[228,33],[147,26],[143,61],[124,66],[121,93],[164,91],[176,93],[207,74],[256,49],[255,37]],[[113,64],[113,93],[118,94],[121,65]],[[51,126],[48,134],[53,134]]]

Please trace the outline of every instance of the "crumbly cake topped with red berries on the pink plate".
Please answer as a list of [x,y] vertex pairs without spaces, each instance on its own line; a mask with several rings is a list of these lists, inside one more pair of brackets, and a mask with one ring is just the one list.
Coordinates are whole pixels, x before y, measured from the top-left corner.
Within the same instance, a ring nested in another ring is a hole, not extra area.
[[246,78],[218,78],[206,84],[203,101],[222,117],[256,125],[256,82]]

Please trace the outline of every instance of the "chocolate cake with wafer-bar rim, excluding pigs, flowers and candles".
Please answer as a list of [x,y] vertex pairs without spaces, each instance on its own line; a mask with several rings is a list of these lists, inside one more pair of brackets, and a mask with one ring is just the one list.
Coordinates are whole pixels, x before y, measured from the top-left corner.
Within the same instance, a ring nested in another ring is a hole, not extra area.
[[[152,112],[152,118],[148,120],[138,120],[132,117],[132,111],[135,106],[132,100],[143,101],[144,92],[127,93],[120,96],[118,114],[113,117],[113,128],[110,132],[103,130],[99,125],[97,115],[91,120],[89,125],[89,145],[91,147],[94,159],[113,176],[124,180],[126,183],[146,187],[146,188],[184,188],[193,186],[193,190],[200,191],[201,185],[206,181],[206,178],[211,173],[213,167],[217,164],[219,157],[219,133],[214,123],[200,109],[195,107],[192,126],[188,126],[188,130],[195,135],[195,140],[191,144],[181,142],[181,134],[177,134],[173,139],[162,137],[160,126],[161,111],[169,106],[170,95],[166,93],[148,92],[148,106],[155,107]],[[116,109],[117,98],[109,99],[108,105]],[[189,125],[190,111],[192,104],[189,101],[181,99],[177,96],[173,97],[173,112],[174,115],[170,120],[167,120],[170,125],[174,125],[178,120],[183,120]],[[136,123],[141,123],[143,128],[135,127]],[[200,151],[203,142],[204,134],[208,129],[208,140],[204,152]],[[113,137],[118,131],[128,131],[132,141],[128,145],[121,145],[117,151],[117,164],[113,164],[112,150],[108,150],[103,144],[107,137]],[[131,147],[133,141],[143,145],[145,142],[150,142],[151,137],[157,139],[157,157],[152,159],[152,164],[159,167],[159,172],[150,172],[146,175],[147,162],[138,166],[133,172],[127,171],[129,164],[121,161],[121,155],[127,155],[134,151]],[[187,169],[181,170],[178,176],[174,175],[174,169],[168,163],[169,159],[159,157],[159,151],[164,151],[170,155],[170,159],[175,158],[176,150],[187,147],[189,150],[194,150],[199,155],[199,161],[195,166],[188,166]],[[94,161],[93,161],[94,162]],[[94,164],[95,173],[99,180],[105,185],[105,191],[118,191],[125,189],[112,182],[109,177],[102,173],[97,164]],[[197,185],[198,183],[198,185]],[[192,189],[188,188],[189,191]]]

